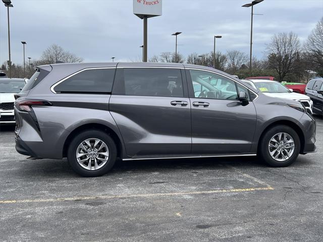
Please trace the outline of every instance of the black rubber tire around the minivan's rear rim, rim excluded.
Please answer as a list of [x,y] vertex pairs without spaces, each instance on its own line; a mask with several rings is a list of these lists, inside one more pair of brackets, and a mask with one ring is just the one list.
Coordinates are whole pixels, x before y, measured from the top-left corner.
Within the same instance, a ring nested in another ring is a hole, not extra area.
[[[106,144],[107,148],[109,149],[109,158],[107,159],[106,163],[96,170],[88,170],[83,168],[76,159],[77,148],[81,144],[81,142],[92,138],[100,139]],[[87,130],[75,136],[69,145],[67,153],[68,161],[73,170],[79,175],[85,177],[93,177],[106,174],[115,164],[116,157],[117,147],[115,142],[108,134],[105,134],[104,132],[99,130]]]

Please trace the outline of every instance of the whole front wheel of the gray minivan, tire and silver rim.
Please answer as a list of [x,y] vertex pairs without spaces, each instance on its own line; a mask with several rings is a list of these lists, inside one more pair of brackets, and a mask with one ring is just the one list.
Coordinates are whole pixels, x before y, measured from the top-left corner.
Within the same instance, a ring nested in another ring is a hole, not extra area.
[[273,167],[292,164],[300,151],[299,136],[289,126],[278,125],[268,130],[260,141],[258,155]]

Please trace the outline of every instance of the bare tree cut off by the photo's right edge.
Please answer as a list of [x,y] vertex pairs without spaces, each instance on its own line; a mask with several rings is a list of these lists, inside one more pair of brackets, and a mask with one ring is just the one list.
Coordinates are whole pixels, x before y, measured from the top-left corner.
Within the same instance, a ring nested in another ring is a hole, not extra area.
[[304,48],[312,68],[323,72],[323,18],[308,36]]

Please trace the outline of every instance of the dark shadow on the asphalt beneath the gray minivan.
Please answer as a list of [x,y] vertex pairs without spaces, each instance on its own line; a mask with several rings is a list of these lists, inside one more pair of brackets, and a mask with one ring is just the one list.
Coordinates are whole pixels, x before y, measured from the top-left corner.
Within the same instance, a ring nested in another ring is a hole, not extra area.
[[[21,168],[18,171],[22,177],[32,176],[33,178],[72,178],[81,177],[76,174],[66,159],[63,160],[20,160]],[[315,161],[300,156],[291,167],[303,167],[313,164]],[[268,167],[258,157],[222,157],[222,158],[183,158],[183,159],[160,159],[160,160],[117,160],[113,169],[104,176],[127,175],[129,172],[151,173],[160,172],[176,174],[178,172],[191,172],[192,170],[225,170],[231,166],[240,170],[248,169],[275,169]],[[278,168],[279,169],[279,168]]]

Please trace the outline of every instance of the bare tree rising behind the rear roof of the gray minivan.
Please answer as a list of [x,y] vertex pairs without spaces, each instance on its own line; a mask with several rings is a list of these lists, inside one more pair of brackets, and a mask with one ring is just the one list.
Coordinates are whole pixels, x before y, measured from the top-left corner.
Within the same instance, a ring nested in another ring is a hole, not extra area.
[[83,61],[83,58],[77,57],[75,54],[64,50],[57,44],[52,44],[42,52],[41,61],[45,64],[53,64],[58,61],[64,63],[80,63]]

